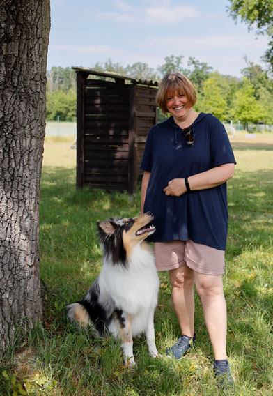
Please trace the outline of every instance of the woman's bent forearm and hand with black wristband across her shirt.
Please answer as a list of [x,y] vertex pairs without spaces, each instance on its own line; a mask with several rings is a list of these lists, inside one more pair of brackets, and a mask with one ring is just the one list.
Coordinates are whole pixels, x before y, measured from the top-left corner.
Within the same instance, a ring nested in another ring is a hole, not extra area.
[[[206,172],[200,174],[195,174],[194,176],[189,176],[189,188],[192,191],[195,190],[205,190],[207,188],[216,187],[222,183],[225,183],[229,178],[234,175],[235,165],[224,164],[219,167],[212,168]],[[166,195],[173,195],[179,197],[187,192],[184,178],[174,178],[169,181],[169,184],[163,190]]]

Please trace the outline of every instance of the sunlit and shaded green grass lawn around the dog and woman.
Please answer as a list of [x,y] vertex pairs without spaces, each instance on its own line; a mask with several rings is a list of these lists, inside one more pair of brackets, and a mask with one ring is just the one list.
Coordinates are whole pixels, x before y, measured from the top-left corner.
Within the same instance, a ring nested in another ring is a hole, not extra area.
[[[73,139],[47,138],[40,198],[41,277],[45,323],[20,335],[0,370],[0,395],[146,396],[216,395],[212,348],[196,296],[194,351],[181,361],[153,359],[143,337],[134,342],[138,367],[123,366],[111,337],[75,332],[63,307],[81,298],[100,272],[95,223],[111,215],[137,215],[140,195],[75,189]],[[232,141],[237,160],[228,182],[229,236],[224,285],[228,305],[228,356],[235,395],[272,395],[273,356],[273,135]],[[155,312],[161,353],[179,335],[167,273],[160,273]]]

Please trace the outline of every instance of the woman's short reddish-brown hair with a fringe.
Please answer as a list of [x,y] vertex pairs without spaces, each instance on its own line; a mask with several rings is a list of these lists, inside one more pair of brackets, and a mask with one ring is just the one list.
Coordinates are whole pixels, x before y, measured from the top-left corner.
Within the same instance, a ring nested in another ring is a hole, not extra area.
[[192,82],[180,72],[167,73],[159,83],[155,100],[164,114],[168,112],[166,107],[166,96],[169,92],[184,93],[189,100],[189,105],[193,107],[196,104],[196,91],[194,86]]

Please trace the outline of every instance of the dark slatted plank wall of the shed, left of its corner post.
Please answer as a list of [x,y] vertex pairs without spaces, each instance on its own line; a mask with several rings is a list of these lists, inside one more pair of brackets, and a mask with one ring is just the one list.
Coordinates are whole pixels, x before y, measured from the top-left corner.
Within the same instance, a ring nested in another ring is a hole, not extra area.
[[84,95],[84,185],[128,189],[129,86],[87,79]]

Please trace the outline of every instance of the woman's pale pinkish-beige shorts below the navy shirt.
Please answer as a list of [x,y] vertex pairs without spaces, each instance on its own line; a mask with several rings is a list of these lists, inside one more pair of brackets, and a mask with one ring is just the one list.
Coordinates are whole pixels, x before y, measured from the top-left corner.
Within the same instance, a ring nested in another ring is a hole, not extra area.
[[188,266],[205,275],[221,275],[225,271],[224,250],[188,241],[155,242],[157,271],[169,271]]

